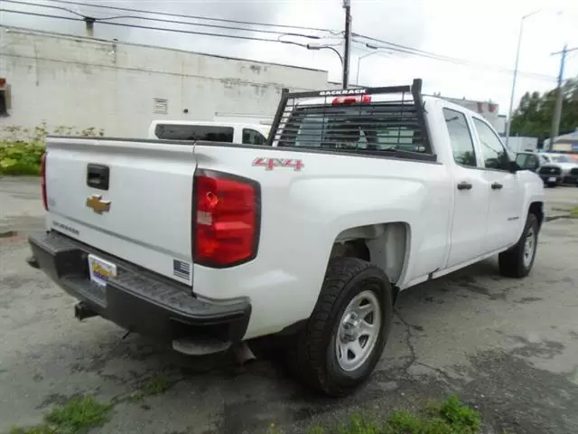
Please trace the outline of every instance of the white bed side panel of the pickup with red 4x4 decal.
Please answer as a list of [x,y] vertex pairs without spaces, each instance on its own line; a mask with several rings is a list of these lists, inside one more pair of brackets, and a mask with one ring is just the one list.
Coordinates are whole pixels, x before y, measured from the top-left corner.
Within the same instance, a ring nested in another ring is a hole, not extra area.
[[[401,222],[410,260],[397,283],[443,265],[453,191],[444,165],[208,142],[198,142],[194,154],[199,169],[250,177],[264,186],[256,259],[230,269],[195,265],[193,272],[200,296],[251,295],[247,337],[310,315],[331,247],[343,231]],[[268,170],[268,163],[276,166]],[[385,236],[377,229],[376,237]]]

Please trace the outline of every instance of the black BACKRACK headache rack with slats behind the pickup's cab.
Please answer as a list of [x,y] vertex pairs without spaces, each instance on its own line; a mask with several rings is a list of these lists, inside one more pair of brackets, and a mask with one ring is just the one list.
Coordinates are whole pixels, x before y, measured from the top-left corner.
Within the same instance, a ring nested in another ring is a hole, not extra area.
[[283,90],[268,146],[435,161],[422,80],[411,86]]

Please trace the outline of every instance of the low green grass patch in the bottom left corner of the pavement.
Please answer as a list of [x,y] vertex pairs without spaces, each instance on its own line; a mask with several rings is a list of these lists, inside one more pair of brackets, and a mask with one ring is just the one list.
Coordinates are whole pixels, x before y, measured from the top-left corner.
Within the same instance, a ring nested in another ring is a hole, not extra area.
[[30,428],[13,428],[10,434],[81,434],[107,422],[112,404],[93,396],[72,398],[44,416],[44,423]]

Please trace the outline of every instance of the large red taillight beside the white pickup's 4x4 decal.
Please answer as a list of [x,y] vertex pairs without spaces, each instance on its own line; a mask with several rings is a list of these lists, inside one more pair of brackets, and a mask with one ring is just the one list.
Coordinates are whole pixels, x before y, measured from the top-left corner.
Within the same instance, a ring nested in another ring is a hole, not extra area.
[[195,263],[224,268],[255,258],[260,223],[259,184],[238,176],[198,171],[193,191]]

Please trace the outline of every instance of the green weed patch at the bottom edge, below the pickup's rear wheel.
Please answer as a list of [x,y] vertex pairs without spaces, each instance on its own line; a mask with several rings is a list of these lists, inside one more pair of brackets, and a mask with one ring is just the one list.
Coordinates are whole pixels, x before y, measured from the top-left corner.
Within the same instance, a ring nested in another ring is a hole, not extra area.
[[432,403],[421,414],[398,410],[387,420],[357,414],[338,427],[312,427],[308,434],[479,434],[480,426],[480,413],[452,396],[441,403]]

